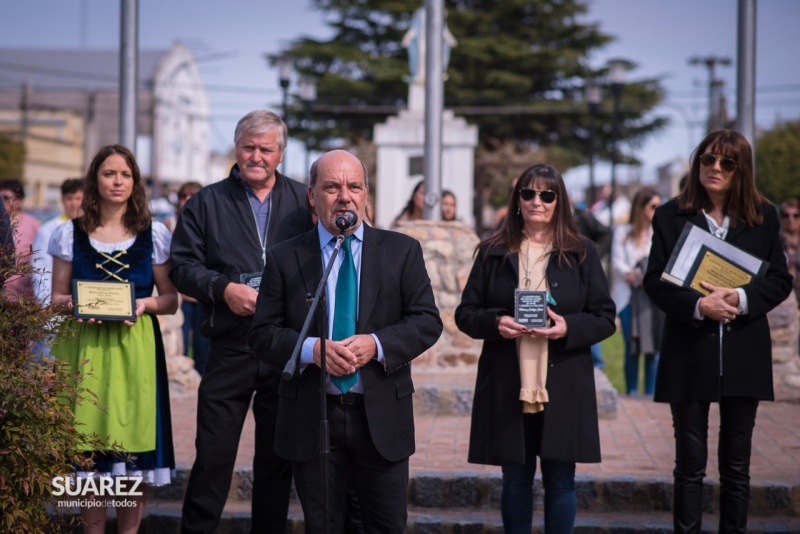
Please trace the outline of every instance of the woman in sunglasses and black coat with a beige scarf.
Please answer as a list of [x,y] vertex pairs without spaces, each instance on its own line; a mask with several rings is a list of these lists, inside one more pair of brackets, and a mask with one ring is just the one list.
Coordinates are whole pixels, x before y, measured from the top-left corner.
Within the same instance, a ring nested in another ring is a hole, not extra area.
[[[514,320],[515,290],[547,292],[549,326]],[[561,175],[534,165],[517,180],[499,231],[478,245],[456,324],[483,339],[469,461],[503,468],[505,532],[530,534],[541,458],[546,532],[572,532],[575,464],[600,461],[590,347],[614,333],[597,252],[578,235]]]

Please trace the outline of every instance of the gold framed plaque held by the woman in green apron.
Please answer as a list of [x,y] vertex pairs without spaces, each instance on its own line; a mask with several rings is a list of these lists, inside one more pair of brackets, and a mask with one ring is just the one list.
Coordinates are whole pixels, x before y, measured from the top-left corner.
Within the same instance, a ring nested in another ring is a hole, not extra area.
[[79,319],[136,321],[133,282],[72,281],[72,314]]

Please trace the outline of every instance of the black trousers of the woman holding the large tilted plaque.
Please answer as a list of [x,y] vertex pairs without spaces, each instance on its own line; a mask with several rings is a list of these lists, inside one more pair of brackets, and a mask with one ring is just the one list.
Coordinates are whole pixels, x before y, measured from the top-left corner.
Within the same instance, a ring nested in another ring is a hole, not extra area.
[[[675,429],[675,532],[699,533],[703,478],[708,462],[708,402],[672,403]],[[750,451],[758,400],[724,397],[719,402],[719,532],[745,532],[750,500]]]

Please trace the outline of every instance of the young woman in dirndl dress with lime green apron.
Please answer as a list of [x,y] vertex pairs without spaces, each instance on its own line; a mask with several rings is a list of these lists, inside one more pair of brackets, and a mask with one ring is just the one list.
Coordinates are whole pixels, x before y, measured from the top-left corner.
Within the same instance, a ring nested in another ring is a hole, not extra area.
[[[82,209],[81,217],[59,226],[50,239],[53,302],[73,304],[73,280],[132,282],[136,320],[78,320],[72,323],[74,332],[53,344],[51,353],[81,373],[81,385],[101,405],[73,405],[81,431],[125,453],[87,451],[94,470],[78,476],[129,475],[142,477],[144,484],[169,484],[175,459],[164,344],[155,316],[178,308],[178,292],[168,277],[171,236],[163,224],[151,221],[139,167],[121,145],[105,146],[95,155]],[[135,533],[144,496],[126,498],[136,506],[117,508],[117,529]],[[88,534],[105,531],[104,506],[82,508],[81,516]]]

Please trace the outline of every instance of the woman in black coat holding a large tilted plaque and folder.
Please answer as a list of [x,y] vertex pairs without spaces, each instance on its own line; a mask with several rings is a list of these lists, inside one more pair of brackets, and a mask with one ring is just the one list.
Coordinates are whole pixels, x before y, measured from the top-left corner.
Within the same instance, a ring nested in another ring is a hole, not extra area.
[[[744,532],[750,449],[760,400],[773,400],[767,312],[792,290],[775,208],[756,190],[753,155],[736,132],[709,134],[680,195],[656,210],[644,287],[666,314],[656,402],[675,428],[675,532],[700,532],[708,459],[708,411],[719,403],[720,532]],[[661,279],[687,222],[769,262],[741,287],[701,285],[707,295]]]

